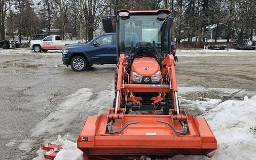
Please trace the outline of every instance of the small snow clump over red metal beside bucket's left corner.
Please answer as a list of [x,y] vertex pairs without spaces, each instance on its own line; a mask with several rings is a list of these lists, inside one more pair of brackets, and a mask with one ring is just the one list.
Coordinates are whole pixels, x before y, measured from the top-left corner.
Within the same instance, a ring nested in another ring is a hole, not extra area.
[[[58,135],[58,139],[53,143],[61,145],[62,148],[57,153],[54,160],[83,160],[83,152],[77,148],[77,143],[72,141],[75,140],[69,135],[66,135],[63,138]],[[51,154],[52,152],[53,150],[46,152],[46,154]]]

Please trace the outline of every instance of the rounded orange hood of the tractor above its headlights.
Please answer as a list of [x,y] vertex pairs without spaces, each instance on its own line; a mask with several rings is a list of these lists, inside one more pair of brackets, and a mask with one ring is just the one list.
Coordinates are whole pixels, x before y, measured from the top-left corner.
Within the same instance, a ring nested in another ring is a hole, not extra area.
[[143,57],[135,58],[132,63],[131,71],[142,76],[151,76],[160,70],[160,66],[155,58]]

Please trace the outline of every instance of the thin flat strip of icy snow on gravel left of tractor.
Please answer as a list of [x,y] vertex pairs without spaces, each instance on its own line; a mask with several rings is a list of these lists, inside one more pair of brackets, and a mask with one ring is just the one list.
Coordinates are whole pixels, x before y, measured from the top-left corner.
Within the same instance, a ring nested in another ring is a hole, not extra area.
[[57,134],[65,131],[68,127],[72,126],[72,121],[79,117],[81,110],[86,108],[91,95],[93,95],[92,89],[83,88],[66,96],[65,101],[58,108],[30,130],[32,136],[37,137],[46,132]]

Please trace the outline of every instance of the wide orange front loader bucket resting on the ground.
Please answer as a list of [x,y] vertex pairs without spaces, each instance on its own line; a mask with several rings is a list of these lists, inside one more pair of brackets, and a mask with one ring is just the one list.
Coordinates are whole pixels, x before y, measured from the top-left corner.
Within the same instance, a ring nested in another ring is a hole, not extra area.
[[[181,117],[121,113],[114,121],[109,119],[113,113],[110,108],[108,114],[86,118],[77,144],[86,155],[207,154],[217,148],[205,118],[186,115],[184,110]],[[180,119],[187,122],[186,133]],[[123,130],[109,132],[109,122],[113,130]]]

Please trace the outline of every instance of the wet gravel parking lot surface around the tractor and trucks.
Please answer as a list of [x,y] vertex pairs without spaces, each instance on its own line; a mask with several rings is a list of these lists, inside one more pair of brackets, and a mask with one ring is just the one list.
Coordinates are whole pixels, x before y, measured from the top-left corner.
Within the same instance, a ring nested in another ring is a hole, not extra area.
[[[255,51],[178,50],[177,56],[180,95],[190,100],[256,95]],[[112,106],[116,65],[75,72],[62,64],[61,51],[0,49],[0,68],[2,159],[36,157],[58,134],[76,138],[87,115]]]

